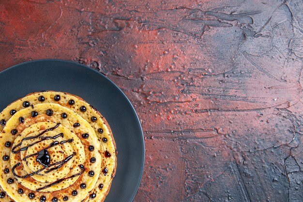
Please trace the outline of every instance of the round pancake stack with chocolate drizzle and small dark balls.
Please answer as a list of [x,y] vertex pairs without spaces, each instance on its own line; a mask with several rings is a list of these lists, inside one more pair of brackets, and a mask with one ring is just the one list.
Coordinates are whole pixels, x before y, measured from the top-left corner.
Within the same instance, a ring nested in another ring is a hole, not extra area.
[[0,202],[103,202],[117,151],[106,119],[69,93],[31,93],[0,113]]

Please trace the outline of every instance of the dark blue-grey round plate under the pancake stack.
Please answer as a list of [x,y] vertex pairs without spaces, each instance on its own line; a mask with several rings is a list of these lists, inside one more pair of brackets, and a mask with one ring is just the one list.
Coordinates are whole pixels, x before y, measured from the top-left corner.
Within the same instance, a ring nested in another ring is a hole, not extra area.
[[101,73],[76,62],[38,60],[0,72],[0,111],[32,92],[52,90],[82,97],[106,118],[117,145],[117,172],[105,202],[132,202],[144,167],[143,132],[124,93]]

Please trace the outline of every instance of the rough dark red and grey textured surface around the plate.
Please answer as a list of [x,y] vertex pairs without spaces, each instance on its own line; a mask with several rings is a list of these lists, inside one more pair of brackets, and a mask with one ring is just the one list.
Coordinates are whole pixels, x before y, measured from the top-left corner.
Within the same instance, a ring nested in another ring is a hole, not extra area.
[[135,202],[302,202],[302,13],[302,0],[1,0],[0,70],[57,58],[113,80],[145,133]]

